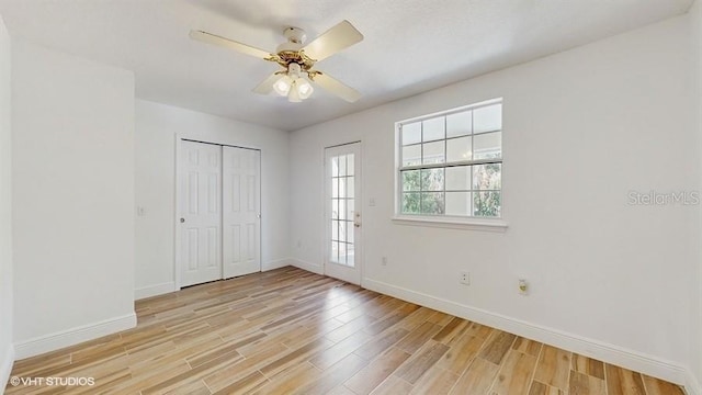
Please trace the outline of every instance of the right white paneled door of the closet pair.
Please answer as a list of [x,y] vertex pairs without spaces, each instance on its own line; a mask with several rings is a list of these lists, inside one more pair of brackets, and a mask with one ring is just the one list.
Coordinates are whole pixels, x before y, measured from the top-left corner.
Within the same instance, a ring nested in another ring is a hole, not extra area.
[[261,151],[223,147],[223,273],[261,271]]

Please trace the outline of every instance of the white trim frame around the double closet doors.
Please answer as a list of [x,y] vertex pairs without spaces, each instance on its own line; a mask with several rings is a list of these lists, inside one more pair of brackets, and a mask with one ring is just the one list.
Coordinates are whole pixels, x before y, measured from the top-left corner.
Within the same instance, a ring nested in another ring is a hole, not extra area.
[[[192,143],[202,143],[202,144],[212,144],[212,145],[218,145],[218,146],[227,146],[227,147],[235,147],[235,148],[244,148],[244,149],[252,149],[252,150],[258,150],[260,153],[259,156],[259,169],[261,172],[261,181],[259,183],[259,200],[260,200],[260,205],[261,205],[261,213],[263,212],[263,149],[261,149],[260,147],[257,147],[256,145],[248,145],[248,146],[242,146],[236,143],[229,143],[229,142],[223,142],[219,139],[208,139],[205,138],[203,139],[202,136],[197,136],[196,134],[189,134],[189,133],[176,133],[174,134],[174,150],[176,150],[176,156],[174,156],[174,173],[173,177],[176,178],[176,182],[174,184],[174,191],[173,191],[173,290],[178,291],[181,289],[181,284],[182,284],[182,279],[181,279],[181,253],[180,253],[180,237],[181,237],[181,230],[180,230],[180,226],[178,226],[179,224],[179,218],[180,218],[180,212],[179,212],[179,207],[180,207],[180,188],[181,188],[181,182],[180,182],[180,160],[181,158],[181,142],[185,140],[185,142],[192,142]],[[262,218],[261,218],[262,219]],[[219,219],[222,222],[222,218]],[[261,261],[260,261],[260,268],[261,270],[263,270],[263,221],[261,221],[261,223],[259,224],[259,239],[261,240],[261,242],[259,244],[259,255],[261,257]],[[222,236],[222,235],[220,235]]]

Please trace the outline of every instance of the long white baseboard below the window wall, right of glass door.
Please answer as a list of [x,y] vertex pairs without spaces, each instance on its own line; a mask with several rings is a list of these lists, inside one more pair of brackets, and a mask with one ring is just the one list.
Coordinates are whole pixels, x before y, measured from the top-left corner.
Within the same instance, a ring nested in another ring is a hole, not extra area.
[[[694,383],[690,383],[690,380],[693,379],[689,370],[671,361],[666,361],[634,350],[514,319],[500,314],[490,313],[480,308],[471,307],[367,278],[363,279],[363,287],[529,339],[537,340],[554,347],[563,348],[568,351],[574,351],[608,363],[642,372],[654,377],[684,385],[689,395],[702,395],[699,392],[699,383],[697,385]],[[693,382],[695,381],[693,380]],[[688,388],[689,385],[695,385],[697,388]]]

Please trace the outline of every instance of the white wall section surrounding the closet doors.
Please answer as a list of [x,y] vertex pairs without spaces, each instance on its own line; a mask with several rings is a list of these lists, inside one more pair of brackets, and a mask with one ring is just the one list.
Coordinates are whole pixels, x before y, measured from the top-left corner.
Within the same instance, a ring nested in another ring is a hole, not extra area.
[[288,263],[288,133],[170,105],[136,101],[136,297],[173,290],[176,135],[261,149],[261,261]]

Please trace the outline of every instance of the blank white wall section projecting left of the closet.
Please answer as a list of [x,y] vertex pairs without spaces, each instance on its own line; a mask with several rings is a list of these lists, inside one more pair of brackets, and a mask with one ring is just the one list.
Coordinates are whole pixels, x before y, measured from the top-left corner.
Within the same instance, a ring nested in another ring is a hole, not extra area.
[[18,358],[134,326],[134,75],[12,43]]

